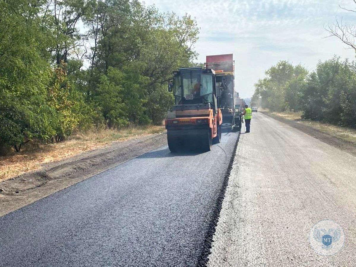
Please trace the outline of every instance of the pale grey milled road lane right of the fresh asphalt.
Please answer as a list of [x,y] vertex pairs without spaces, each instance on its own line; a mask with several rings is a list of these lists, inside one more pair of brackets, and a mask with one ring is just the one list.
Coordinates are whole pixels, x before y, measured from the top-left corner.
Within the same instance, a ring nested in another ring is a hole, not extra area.
[[[345,235],[332,256],[309,244],[313,225],[325,219]],[[213,239],[209,267],[356,266],[356,157],[253,113]]]

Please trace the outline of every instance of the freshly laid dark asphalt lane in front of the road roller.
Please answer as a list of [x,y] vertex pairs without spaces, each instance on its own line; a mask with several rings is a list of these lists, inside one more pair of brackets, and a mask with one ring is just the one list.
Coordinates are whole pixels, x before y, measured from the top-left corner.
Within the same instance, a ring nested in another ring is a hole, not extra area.
[[160,147],[0,217],[0,266],[196,266],[237,137]]

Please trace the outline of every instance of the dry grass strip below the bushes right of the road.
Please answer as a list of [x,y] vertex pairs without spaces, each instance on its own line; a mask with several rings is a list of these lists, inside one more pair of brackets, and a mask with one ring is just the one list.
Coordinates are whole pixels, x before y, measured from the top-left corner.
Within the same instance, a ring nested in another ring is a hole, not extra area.
[[302,123],[304,125],[308,125],[314,129],[318,129],[323,133],[327,133],[333,135],[337,138],[340,138],[345,141],[349,141],[356,145],[356,129],[336,126],[329,123],[316,122],[311,120],[301,119],[302,112],[272,112],[272,114],[277,115],[279,117],[283,117],[290,121],[298,121],[298,123]]

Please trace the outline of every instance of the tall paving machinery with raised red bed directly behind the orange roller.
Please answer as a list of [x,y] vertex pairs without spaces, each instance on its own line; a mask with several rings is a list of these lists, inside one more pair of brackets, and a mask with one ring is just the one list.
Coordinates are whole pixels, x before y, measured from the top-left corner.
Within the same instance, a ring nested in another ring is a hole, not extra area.
[[223,114],[221,128],[233,131],[241,129],[241,112],[235,107],[235,65],[233,54],[206,56],[205,68],[216,73],[218,107]]

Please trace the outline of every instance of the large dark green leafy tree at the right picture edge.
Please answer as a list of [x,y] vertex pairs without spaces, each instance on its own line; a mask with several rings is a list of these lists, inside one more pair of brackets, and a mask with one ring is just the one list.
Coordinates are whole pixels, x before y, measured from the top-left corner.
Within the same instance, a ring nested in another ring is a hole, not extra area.
[[355,65],[334,57],[319,62],[304,94],[303,117],[355,127]]

